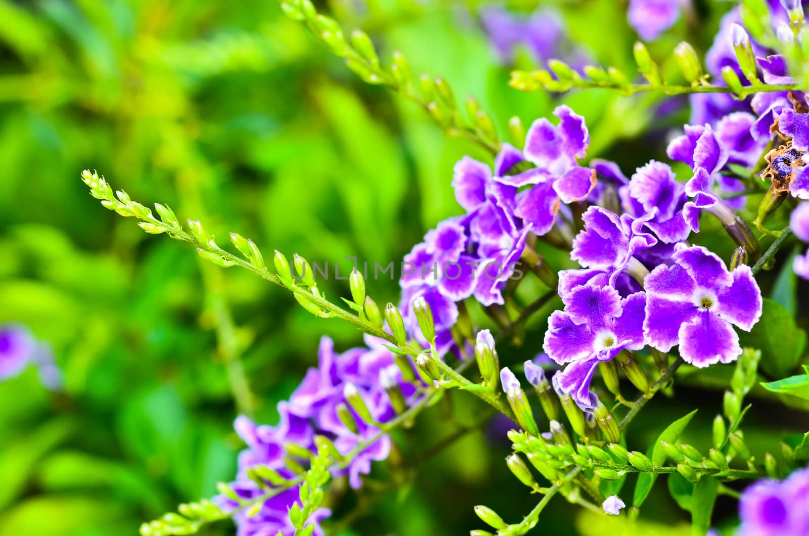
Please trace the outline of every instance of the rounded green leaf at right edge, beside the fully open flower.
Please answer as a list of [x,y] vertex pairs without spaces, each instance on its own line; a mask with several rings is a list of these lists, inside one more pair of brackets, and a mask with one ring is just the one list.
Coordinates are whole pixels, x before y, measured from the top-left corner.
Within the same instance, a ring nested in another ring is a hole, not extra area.
[[743,347],[761,351],[761,368],[776,378],[787,376],[798,364],[806,346],[806,332],[795,325],[794,315],[783,305],[764,299],[761,320],[750,333],[739,333]]

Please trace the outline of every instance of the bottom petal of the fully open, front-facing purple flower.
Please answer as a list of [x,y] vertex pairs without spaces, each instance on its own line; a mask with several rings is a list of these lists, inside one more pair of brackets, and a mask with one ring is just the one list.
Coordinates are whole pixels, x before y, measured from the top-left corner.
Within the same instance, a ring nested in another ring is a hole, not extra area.
[[731,363],[742,354],[739,335],[711,311],[700,311],[692,321],[680,325],[679,338],[680,357],[697,368]]

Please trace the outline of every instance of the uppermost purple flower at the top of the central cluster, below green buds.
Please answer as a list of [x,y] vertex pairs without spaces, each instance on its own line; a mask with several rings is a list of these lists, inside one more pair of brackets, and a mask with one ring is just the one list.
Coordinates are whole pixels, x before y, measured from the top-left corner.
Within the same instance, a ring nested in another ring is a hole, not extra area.
[[[502,169],[496,177],[502,184],[517,188],[533,185],[517,196],[514,215],[530,223],[537,235],[553,227],[561,202],[587,198],[596,184],[595,170],[578,164],[590,145],[584,118],[567,106],[557,107],[553,114],[560,119],[559,124],[553,126],[544,117],[534,121],[522,153],[514,147],[503,147]],[[507,174],[524,160],[536,167]]]

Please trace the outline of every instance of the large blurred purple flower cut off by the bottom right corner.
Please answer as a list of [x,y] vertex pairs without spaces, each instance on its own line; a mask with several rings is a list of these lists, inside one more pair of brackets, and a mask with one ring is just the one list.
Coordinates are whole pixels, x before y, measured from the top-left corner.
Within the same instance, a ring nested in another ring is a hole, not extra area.
[[739,536],[803,536],[809,534],[809,468],[782,482],[762,479],[739,500]]

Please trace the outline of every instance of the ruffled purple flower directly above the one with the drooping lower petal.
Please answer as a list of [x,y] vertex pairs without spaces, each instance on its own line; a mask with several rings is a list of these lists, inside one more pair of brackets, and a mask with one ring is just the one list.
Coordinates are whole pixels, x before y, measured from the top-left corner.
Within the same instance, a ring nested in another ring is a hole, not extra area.
[[[585,228],[574,238],[570,253],[570,258],[584,269],[559,272],[559,295],[565,296],[574,287],[587,283],[614,287],[625,273],[646,274],[646,267],[634,255],[657,244],[658,240],[643,229],[655,214],[636,219],[628,214],[618,216],[600,206],[588,208],[582,215]],[[629,278],[623,283],[629,291],[639,290]]]

